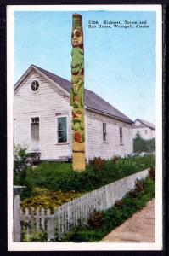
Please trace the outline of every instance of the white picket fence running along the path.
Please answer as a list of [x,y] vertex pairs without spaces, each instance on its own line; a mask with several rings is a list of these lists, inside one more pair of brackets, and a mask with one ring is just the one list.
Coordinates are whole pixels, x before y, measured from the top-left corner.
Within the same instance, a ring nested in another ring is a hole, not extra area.
[[[33,208],[31,211],[27,208],[25,211],[20,209],[20,224],[25,224],[25,233],[28,238],[34,231],[45,230],[48,241],[55,241],[56,236],[60,239],[72,228],[86,225],[90,213],[94,210],[102,211],[112,207],[115,201],[121,200],[128,191],[134,189],[137,179],[144,179],[148,175],[149,169],[146,169],[121,178],[63,204],[55,209],[54,214],[50,214],[49,209],[45,211],[43,208],[41,211],[39,208],[36,211]],[[20,232],[23,227],[18,230]],[[17,236],[18,232],[14,231],[14,241],[20,240],[20,236]]]

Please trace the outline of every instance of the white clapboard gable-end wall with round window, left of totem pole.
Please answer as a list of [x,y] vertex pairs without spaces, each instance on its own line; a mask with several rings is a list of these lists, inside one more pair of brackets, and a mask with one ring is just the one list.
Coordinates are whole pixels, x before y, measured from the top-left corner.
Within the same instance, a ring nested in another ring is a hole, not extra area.
[[[38,79],[40,90],[31,92],[31,81]],[[65,114],[68,119],[68,138],[65,145],[57,143],[56,116]],[[36,72],[25,80],[14,95],[14,142],[29,147],[31,144],[31,118],[39,117],[39,143],[42,160],[71,157],[71,109],[69,97],[54,84]]]

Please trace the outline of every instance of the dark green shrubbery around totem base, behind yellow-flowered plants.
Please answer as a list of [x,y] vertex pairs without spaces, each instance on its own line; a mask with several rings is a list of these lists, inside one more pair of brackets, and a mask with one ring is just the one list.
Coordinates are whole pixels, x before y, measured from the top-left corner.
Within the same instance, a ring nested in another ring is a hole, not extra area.
[[[103,164],[103,160],[100,160]],[[100,166],[102,165],[100,164]],[[49,191],[89,192],[99,189],[107,183],[115,182],[122,177],[139,172],[145,168],[155,166],[155,156],[132,157],[104,161],[103,170],[93,166],[93,162],[87,165],[86,171],[74,172],[70,163],[42,163],[36,169],[27,168],[14,176],[18,185],[24,185],[25,197],[33,196],[33,189],[46,188]]]

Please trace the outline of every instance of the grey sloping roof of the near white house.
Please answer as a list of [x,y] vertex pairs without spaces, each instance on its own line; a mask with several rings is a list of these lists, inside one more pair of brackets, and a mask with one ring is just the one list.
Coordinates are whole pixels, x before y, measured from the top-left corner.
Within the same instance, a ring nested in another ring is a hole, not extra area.
[[[58,75],[55,75],[54,73],[48,72],[45,69],[42,69],[41,67],[37,67],[35,65],[31,65],[31,67],[28,68],[28,70],[25,72],[25,74],[19,79],[19,81],[14,84],[14,91],[17,90],[17,88],[20,86],[22,81],[27,77],[27,75],[31,72],[31,70],[35,69],[37,71],[40,71],[45,76],[47,76],[49,79],[52,79],[56,84],[58,84],[63,90],[70,93],[71,89],[71,82],[59,77]],[[103,98],[98,96],[96,93],[94,93],[91,90],[84,90],[84,102],[85,106],[93,110],[94,112],[103,113],[106,115],[109,115],[115,119],[121,119],[123,121],[126,121],[127,123],[133,123],[132,119],[129,119],[125,114],[121,113],[118,109],[110,105],[110,103],[104,101]]]

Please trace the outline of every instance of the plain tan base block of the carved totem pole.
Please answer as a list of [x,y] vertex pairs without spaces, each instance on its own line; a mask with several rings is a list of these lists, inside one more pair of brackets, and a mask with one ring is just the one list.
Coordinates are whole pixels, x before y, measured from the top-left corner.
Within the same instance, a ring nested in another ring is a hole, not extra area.
[[84,171],[85,170],[85,143],[73,143],[73,170]]

